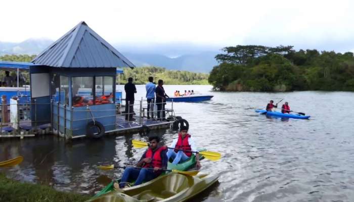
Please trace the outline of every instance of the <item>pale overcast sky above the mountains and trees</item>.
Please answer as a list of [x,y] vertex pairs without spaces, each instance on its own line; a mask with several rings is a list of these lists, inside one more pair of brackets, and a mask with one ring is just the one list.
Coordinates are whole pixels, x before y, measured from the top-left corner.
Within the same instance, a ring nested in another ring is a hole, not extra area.
[[110,43],[354,50],[351,1],[27,0],[2,1],[0,7],[0,41],[56,40],[85,21]]

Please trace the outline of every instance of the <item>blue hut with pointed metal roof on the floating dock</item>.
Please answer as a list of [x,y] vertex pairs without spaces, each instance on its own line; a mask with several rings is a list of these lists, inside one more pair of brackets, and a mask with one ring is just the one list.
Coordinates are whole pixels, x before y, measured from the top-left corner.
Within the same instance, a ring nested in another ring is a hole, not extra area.
[[85,136],[87,124],[97,126],[93,134],[115,129],[116,68],[135,66],[85,22],[31,62],[40,64],[29,72],[32,125],[52,122],[69,138]]

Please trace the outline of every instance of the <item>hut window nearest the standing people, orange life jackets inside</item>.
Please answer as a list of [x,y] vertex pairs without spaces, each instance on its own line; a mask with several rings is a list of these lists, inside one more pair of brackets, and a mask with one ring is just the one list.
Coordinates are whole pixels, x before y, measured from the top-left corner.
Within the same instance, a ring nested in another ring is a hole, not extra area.
[[113,103],[113,76],[96,77],[96,105]]

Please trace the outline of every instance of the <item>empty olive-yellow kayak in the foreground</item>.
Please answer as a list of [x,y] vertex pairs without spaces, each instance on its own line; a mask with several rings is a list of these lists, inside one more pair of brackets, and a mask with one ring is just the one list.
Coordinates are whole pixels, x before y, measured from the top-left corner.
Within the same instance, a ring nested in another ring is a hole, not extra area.
[[217,178],[217,175],[192,177],[169,173],[138,186],[111,191],[87,202],[182,202],[211,186]]

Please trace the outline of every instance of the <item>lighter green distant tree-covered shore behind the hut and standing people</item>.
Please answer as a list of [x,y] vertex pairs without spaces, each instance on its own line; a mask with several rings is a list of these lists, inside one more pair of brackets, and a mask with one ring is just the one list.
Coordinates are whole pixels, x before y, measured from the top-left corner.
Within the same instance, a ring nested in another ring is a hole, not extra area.
[[[0,61],[30,62],[35,55],[5,55],[0,56]],[[124,74],[120,75],[120,84],[125,84],[129,77],[135,84],[146,84],[148,77],[154,77],[154,81],[162,79],[166,85],[209,85],[209,74],[194,73],[180,70],[167,70],[162,67],[137,67],[134,69],[123,68]],[[118,78],[117,78],[118,82]]]

